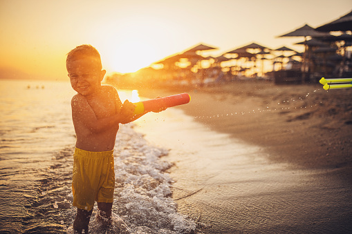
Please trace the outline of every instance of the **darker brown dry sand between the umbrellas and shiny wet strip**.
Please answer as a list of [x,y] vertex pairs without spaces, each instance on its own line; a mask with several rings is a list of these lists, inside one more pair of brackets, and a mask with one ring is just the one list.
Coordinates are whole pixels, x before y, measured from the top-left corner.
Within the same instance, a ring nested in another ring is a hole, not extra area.
[[240,81],[203,88],[140,88],[142,97],[188,92],[178,106],[210,129],[267,150],[270,160],[323,169],[352,182],[352,90]]

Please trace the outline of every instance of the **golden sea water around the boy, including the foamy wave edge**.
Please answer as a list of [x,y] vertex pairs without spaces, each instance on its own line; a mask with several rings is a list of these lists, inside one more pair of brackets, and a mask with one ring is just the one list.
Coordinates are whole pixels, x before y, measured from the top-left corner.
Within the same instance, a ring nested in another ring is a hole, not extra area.
[[[73,95],[68,82],[0,81],[1,233],[73,232]],[[102,229],[94,208],[90,233],[191,233],[195,222],[172,199],[169,150],[133,126],[121,126],[115,144],[112,225]]]

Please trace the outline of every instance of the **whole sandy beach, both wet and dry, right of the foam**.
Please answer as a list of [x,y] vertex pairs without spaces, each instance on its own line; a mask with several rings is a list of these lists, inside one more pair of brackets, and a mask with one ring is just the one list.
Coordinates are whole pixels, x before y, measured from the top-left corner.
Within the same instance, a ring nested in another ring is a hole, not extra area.
[[[174,199],[203,233],[352,230],[351,90],[250,82],[140,95],[179,92],[192,96],[179,108],[208,129],[185,124],[163,137],[178,132],[165,140],[176,142],[168,158]],[[191,153],[180,159],[177,150]]]

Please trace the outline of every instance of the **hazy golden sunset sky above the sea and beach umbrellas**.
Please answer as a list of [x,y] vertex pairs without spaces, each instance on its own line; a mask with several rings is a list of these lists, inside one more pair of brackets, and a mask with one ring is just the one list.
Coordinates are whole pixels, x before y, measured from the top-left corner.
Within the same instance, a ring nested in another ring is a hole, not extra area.
[[0,78],[68,79],[66,54],[91,44],[107,73],[134,72],[203,43],[219,56],[255,42],[271,49],[352,10],[351,0],[0,0]]

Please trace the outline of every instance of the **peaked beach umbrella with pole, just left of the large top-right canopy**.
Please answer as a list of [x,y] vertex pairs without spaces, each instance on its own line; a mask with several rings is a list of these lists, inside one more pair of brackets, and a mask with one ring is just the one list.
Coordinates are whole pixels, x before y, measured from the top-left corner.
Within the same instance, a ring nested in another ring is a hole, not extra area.
[[308,24],[302,26],[301,28],[297,28],[296,30],[293,30],[292,32],[288,32],[284,35],[281,35],[279,37],[304,37],[304,59],[303,59],[303,75],[302,75],[302,82],[304,83],[305,78],[306,78],[306,68],[307,67],[307,61],[306,61],[306,40],[307,37],[324,37],[326,35],[329,35],[327,32],[318,32],[311,26],[308,26]]

